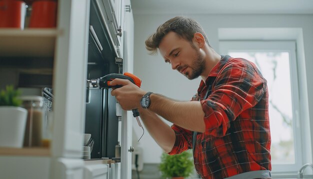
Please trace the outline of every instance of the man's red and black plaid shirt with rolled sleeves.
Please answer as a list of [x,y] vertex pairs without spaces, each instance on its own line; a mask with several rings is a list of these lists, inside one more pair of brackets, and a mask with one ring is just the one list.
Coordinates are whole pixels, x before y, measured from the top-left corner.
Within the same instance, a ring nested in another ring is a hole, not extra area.
[[[210,80],[211,94],[203,99]],[[194,147],[196,171],[202,178],[220,179],[271,170],[268,90],[255,64],[226,55],[205,81],[196,94],[205,113],[205,132],[197,133]],[[171,128],[176,140],[169,154],[191,149],[192,131],[175,124]]]

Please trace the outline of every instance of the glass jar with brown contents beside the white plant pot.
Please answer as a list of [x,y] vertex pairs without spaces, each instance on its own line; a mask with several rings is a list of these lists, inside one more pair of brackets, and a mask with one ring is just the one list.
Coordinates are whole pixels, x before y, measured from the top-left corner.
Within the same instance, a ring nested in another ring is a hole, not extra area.
[[27,109],[27,121],[23,146],[40,146],[42,136],[43,98],[41,96],[21,96],[22,107]]

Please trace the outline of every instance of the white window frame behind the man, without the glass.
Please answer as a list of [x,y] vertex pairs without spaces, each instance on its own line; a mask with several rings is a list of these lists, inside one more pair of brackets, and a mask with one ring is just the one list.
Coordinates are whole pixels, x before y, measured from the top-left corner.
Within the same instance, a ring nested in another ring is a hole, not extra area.
[[299,113],[299,83],[296,59],[296,42],[293,40],[265,41],[265,40],[220,40],[220,54],[228,54],[233,52],[289,52],[290,67],[290,84],[292,99],[292,127],[294,138],[295,163],[294,164],[272,164],[273,173],[294,173],[297,172],[302,165],[302,145],[301,140],[301,122]]

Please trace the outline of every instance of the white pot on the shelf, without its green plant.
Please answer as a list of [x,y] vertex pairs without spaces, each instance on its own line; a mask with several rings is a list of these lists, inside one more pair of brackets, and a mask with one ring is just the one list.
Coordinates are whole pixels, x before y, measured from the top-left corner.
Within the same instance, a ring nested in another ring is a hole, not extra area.
[[23,146],[26,119],[26,109],[0,106],[0,147]]

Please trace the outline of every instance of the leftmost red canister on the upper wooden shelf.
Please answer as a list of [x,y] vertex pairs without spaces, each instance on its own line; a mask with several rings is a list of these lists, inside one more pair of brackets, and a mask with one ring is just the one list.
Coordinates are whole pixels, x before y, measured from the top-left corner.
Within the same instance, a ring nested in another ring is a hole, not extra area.
[[24,28],[26,7],[21,0],[0,0],[0,27]]

